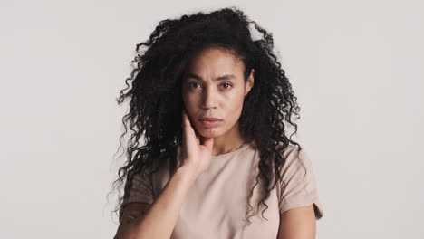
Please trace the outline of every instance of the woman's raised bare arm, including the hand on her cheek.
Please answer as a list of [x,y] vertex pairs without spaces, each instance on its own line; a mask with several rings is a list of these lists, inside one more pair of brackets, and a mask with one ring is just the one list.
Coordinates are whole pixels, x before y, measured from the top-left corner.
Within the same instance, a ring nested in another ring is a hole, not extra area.
[[140,211],[134,213],[136,217],[130,223],[120,224],[115,239],[169,239],[188,189],[209,167],[214,139],[203,138],[196,133],[186,110],[183,109],[181,115],[183,122],[181,165],[146,215],[142,212],[146,210],[146,206],[138,206]]

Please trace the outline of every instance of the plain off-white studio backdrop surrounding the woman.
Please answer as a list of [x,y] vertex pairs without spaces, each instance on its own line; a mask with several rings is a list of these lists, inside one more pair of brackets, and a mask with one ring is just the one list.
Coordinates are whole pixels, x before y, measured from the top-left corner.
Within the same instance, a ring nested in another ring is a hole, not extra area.
[[422,1],[0,3],[0,238],[113,237],[115,98],[136,43],[230,5],[273,33],[297,94],[317,238],[422,238]]

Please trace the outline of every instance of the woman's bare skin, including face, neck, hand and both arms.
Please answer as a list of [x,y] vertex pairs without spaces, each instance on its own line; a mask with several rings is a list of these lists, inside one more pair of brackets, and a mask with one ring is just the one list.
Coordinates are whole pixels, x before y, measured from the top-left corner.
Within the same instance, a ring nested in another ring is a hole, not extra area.
[[[243,100],[253,87],[255,70],[246,83],[243,71],[241,62],[219,48],[207,49],[194,58],[187,73],[198,77],[184,77],[181,88],[186,108],[181,112],[183,163],[152,205],[131,203],[124,208],[114,238],[170,238],[188,190],[207,170],[211,156],[246,142],[238,130],[238,119]],[[217,77],[226,74],[235,77],[217,81]],[[223,121],[217,128],[207,128],[198,121],[201,116]],[[315,230],[313,205],[297,207],[281,215],[277,239],[313,239]]]

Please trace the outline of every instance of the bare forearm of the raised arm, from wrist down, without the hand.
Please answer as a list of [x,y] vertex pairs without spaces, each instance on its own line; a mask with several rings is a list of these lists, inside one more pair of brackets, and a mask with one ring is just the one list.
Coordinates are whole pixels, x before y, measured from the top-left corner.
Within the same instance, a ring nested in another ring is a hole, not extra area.
[[147,214],[137,222],[131,238],[169,239],[189,188],[196,181],[191,167],[178,167]]

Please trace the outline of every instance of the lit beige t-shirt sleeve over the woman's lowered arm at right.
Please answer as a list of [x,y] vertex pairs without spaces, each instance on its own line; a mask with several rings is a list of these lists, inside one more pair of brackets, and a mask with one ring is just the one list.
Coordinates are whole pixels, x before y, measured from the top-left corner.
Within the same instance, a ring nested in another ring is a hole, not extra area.
[[279,209],[280,215],[285,211],[313,204],[316,220],[323,217],[323,206],[318,196],[318,187],[315,181],[313,165],[302,148],[288,148],[284,152],[286,158],[282,170],[284,183],[280,184]]

